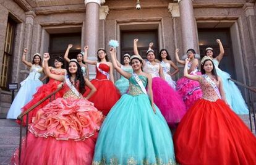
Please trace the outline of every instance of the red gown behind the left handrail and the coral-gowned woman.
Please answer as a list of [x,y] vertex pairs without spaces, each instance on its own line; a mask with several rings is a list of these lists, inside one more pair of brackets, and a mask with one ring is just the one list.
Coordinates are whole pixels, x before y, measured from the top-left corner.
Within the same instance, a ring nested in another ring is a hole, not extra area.
[[[51,74],[64,75],[65,72],[58,71],[56,69],[51,69]],[[27,109],[31,108],[34,104],[38,103],[41,99],[45,98],[50,93],[57,90],[58,85],[60,83],[61,82],[54,80],[53,78],[49,78],[49,82],[42,85],[40,88],[38,88],[36,93],[33,95],[33,99],[30,102],[28,102],[27,104],[25,104],[25,106],[23,106],[22,112],[27,111]],[[63,95],[64,95],[64,90],[60,90],[60,91],[58,91],[58,93],[56,93],[55,98],[61,98]],[[41,103],[36,108],[34,108],[33,111],[30,111],[28,113],[28,123],[29,124],[32,122],[32,118],[36,116],[36,112],[40,108],[43,108],[44,106],[46,106],[46,104],[48,104],[48,103],[49,103],[49,99],[46,99],[43,103]],[[26,121],[26,119],[27,119],[27,116],[24,116],[23,120]],[[25,124],[25,122],[24,122],[24,124]]]

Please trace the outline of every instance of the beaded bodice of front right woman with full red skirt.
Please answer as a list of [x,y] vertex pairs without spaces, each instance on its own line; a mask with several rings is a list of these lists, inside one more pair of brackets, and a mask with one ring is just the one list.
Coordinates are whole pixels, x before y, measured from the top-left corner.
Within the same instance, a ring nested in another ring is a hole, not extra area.
[[[220,86],[220,82],[218,82],[216,78],[211,80],[216,83],[217,87]],[[219,99],[219,96],[217,95],[215,89],[204,77],[202,77],[200,85],[203,91],[203,99],[207,99],[208,101],[216,101],[217,99]]]

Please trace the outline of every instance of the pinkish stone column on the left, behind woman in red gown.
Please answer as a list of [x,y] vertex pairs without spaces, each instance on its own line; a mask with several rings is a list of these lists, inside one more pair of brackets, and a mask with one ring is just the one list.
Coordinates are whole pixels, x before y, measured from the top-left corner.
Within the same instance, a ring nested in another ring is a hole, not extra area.
[[[89,46],[88,59],[96,60],[99,49],[100,0],[85,0],[85,44]],[[83,46],[81,48],[83,50]],[[89,66],[90,78],[95,75],[95,67]]]

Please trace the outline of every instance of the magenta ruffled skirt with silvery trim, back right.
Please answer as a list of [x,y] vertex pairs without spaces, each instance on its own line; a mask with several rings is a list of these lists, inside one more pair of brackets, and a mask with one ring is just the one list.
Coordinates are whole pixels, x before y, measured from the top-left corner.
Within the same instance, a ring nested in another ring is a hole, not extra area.
[[[200,72],[197,72],[196,74],[201,75]],[[199,82],[190,80],[186,77],[182,77],[177,80],[176,89],[179,92],[179,95],[182,96],[187,109],[189,109],[195,103],[195,101],[203,96]]]

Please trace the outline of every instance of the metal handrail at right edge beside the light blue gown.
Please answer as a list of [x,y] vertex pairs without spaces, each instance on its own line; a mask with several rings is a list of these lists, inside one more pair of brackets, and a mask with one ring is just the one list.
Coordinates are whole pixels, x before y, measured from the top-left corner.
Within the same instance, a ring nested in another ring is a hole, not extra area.
[[[254,117],[254,128],[255,128],[255,133],[256,133],[256,116],[255,116],[254,101],[252,100],[252,92],[256,93],[256,89],[253,88],[253,87],[249,87],[249,86],[245,85],[244,83],[241,83],[237,80],[234,80],[233,78],[228,78],[228,80],[231,80],[234,83],[236,83],[237,85],[240,85],[241,87],[244,87],[248,90],[248,92],[249,92],[249,101],[252,104],[252,111],[250,111],[250,108],[249,108],[250,131],[252,132],[252,117]],[[251,114],[253,116],[251,116]]]

